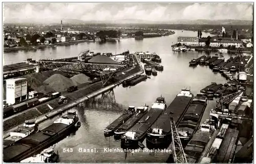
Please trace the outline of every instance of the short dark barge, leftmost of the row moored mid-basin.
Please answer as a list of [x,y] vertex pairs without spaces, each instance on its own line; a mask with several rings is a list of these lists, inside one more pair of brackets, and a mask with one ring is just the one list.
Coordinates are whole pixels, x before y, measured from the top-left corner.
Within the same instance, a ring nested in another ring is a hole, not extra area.
[[117,118],[115,121],[113,121],[109,126],[107,126],[104,129],[104,136],[105,137],[109,137],[114,135],[114,131],[123,124],[123,122],[125,122],[126,120],[128,120],[129,118],[131,118],[131,116],[133,116],[135,113],[135,107],[134,106],[129,106],[129,108],[122,114],[119,116],[119,118]]

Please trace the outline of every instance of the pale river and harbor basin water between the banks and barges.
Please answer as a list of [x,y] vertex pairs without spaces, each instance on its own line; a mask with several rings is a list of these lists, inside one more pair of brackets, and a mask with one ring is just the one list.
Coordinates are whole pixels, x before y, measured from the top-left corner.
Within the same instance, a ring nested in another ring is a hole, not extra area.
[[[205,52],[172,52],[171,45],[177,42],[178,36],[196,36],[197,32],[175,30],[176,34],[164,37],[123,39],[116,43],[84,42],[76,45],[57,46],[56,48],[41,49],[36,51],[17,51],[4,54],[4,63],[11,64],[33,58],[34,60],[46,58],[65,58],[78,56],[79,52],[90,49],[94,52],[122,53],[150,51],[156,52],[161,58],[163,72],[158,72],[156,77],[151,76],[136,86],[123,88],[121,85],[103,96],[86,101],[75,107],[79,115],[81,127],[72,135],[61,140],[55,145],[55,150],[60,154],[60,162],[165,162],[168,153],[150,154],[140,150],[137,153],[127,155],[123,152],[105,152],[104,148],[120,148],[120,142],[113,137],[105,138],[103,129],[127,108],[127,106],[151,105],[157,97],[165,97],[169,105],[177,93],[187,87],[196,95],[203,87],[211,82],[225,83],[226,80],[219,74],[213,73],[208,66],[189,67],[188,62],[193,58],[205,55]],[[210,34],[203,33],[203,37]],[[210,53],[214,55],[215,53]],[[225,59],[229,54],[223,54]],[[215,101],[209,101],[202,121],[209,117],[209,111],[214,107]],[[40,125],[44,127],[52,124],[55,118]],[[145,145],[145,141],[144,141]],[[79,152],[79,148],[93,149],[93,152]],[[94,152],[96,150],[96,152]],[[72,151],[72,152],[71,152]]]

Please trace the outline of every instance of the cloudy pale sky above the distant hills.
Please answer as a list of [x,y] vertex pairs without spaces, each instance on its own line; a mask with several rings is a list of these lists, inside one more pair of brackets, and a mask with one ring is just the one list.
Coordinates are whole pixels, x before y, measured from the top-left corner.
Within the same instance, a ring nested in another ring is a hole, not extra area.
[[4,22],[54,22],[60,19],[118,20],[179,19],[252,20],[252,4],[103,4],[103,3],[4,3]]

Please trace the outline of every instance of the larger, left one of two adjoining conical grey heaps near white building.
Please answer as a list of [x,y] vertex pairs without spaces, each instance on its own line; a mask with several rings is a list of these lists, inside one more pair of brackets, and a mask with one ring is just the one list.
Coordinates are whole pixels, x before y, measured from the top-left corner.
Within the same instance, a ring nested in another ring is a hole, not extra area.
[[52,89],[60,92],[75,85],[71,79],[60,74],[52,75],[50,78],[46,79],[44,83],[49,84]]

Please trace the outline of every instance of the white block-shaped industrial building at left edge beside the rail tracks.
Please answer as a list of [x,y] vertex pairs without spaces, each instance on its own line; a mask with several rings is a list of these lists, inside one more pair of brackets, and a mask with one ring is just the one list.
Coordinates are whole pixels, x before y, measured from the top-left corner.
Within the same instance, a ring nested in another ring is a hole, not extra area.
[[6,80],[6,103],[15,104],[27,99],[28,81],[26,78]]

